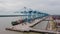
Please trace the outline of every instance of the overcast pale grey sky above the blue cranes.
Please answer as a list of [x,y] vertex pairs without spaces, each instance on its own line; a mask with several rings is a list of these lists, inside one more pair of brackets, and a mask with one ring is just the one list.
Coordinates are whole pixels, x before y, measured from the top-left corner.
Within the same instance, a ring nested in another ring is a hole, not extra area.
[[60,15],[60,0],[0,0],[0,12],[19,11],[28,7],[51,15]]

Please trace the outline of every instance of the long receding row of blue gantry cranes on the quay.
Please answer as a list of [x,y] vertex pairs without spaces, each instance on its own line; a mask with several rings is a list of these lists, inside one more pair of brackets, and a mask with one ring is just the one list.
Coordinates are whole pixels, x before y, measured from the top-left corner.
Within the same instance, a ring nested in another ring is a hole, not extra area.
[[[45,16],[48,16],[49,14],[46,14],[46,13],[42,13],[42,12],[39,12],[37,10],[32,10],[32,9],[27,9],[26,7],[24,7],[25,11],[22,11],[21,13],[22,14],[25,14],[27,15],[27,21],[30,22],[31,19],[37,19],[37,18],[43,18]],[[25,17],[24,17],[25,18]]]

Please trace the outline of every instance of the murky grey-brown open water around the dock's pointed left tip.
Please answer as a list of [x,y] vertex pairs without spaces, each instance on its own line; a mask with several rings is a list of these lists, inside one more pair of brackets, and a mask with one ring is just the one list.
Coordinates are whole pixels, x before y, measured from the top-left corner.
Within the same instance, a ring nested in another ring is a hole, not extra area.
[[[27,32],[27,33],[25,33],[25,32],[16,32],[16,31],[5,30],[6,27],[12,26],[11,25],[12,21],[23,19],[22,17],[23,16],[18,16],[18,17],[0,17],[0,34],[40,34],[40,33],[35,33],[35,32]],[[26,16],[24,16],[24,17],[26,17]],[[44,25],[42,25],[42,26],[45,26],[46,23]],[[43,24],[43,23],[41,23],[41,24]],[[39,27],[41,28],[42,26],[38,25],[36,27],[38,27],[38,29],[39,29]],[[34,27],[34,28],[36,28],[36,27]]]

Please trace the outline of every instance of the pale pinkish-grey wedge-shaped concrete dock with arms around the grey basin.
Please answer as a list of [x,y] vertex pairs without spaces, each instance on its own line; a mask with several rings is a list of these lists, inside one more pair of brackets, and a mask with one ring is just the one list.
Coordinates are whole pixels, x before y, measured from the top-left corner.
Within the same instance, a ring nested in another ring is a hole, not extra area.
[[[50,31],[50,30],[46,30],[46,26],[48,23],[45,23],[46,25],[42,25],[42,21],[45,20],[46,18],[48,17],[44,17],[44,18],[41,18],[41,19],[36,19],[34,20],[32,23],[27,23],[26,25],[22,25],[22,24],[19,24],[19,25],[15,25],[15,26],[11,26],[11,27],[8,27],[6,28],[6,30],[12,30],[12,31],[19,31],[19,32],[24,32],[24,31],[27,31],[27,32],[30,32],[30,31],[33,31],[33,32],[41,32],[41,33],[52,33],[52,34],[60,34],[60,32],[58,31]],[[36,26],[37,24],[41,24],[42,28],[40,29],[35,29],[33,28],[34,26]]]

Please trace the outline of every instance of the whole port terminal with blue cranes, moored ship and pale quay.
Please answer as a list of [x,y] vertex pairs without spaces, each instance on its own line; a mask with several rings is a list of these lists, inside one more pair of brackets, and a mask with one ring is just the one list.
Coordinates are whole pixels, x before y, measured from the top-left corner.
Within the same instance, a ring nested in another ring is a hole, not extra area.
[[6,27],[6,30],[24,32],[24,34],[60,34],[59,15],[50,15],[37,10],[21,13],[26,17],[12,21],[12,26]]

